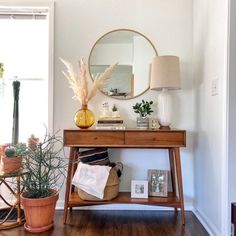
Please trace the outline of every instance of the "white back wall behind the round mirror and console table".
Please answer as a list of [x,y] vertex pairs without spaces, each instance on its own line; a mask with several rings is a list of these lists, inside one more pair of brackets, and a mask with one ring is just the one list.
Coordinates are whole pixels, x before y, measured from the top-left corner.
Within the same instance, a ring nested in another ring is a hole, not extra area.
[[[184,6],[184,7],[183,7]],[[74,65],[80,57],[88,58],[94,42],[104,33],[130,28],[145,34],[156,46],[158,54],[178,55],[181,59],[182,90],[173,92],[175,97],[174,127],[187,130],[187,148],[182,149],[182,170],[186,204],[191,205],[193,188],[193,100],[192,100],[192,3],[189,0],[57,0],[55,5],[55,81],[54,129],[61,131],[75,128],[73,117],[80,104],[72,100],[61,71],[59,57]],[[135,125],[136,115],[132,105],[141,99],[156,101],[157,92],[148,91],[133,100],[114,100],[98,92],[89,103],[98,114],[102,101],[116,104],[128,125]],[[111,150],[115,161],[125,163],[121,189],[130,189],[131,179],[146,179],[148,168],[167,168],[165,151]],[[148,153],[148,155],[147,155]],[[61,194],[60,199],[64,199]],[[131,208],[133,206],[130,206]]]

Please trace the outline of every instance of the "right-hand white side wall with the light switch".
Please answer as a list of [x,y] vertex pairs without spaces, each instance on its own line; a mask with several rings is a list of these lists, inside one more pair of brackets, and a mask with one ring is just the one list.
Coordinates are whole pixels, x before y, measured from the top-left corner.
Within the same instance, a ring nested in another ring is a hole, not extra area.
[[[195,207],[213,235],[224,231],[227,4],[194,1]],[[218,94],[212,96],[212,81]]]

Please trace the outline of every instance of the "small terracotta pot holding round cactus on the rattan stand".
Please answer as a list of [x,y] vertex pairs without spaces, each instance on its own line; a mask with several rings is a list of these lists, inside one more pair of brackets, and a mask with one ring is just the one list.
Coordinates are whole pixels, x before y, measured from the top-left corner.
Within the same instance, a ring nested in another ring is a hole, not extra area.
[[1,171],[4,173],[18,172],[22,167],[22,157],[6,157],[2,156]]

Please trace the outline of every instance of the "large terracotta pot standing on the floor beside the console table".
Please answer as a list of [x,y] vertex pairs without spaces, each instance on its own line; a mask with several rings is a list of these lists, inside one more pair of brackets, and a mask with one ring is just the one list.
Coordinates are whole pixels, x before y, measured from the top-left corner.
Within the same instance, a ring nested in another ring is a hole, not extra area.
[[45,198],[27,198],[21,195],[21,204],[25,211],[25,229],[31,233],[41,233],[53,227],[53,218],[59,193]]

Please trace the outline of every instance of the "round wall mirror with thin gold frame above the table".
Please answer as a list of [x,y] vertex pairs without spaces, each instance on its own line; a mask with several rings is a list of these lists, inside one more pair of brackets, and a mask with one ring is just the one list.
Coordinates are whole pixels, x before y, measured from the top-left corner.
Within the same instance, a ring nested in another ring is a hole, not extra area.
[[116,99],[131,99],[149,89],[151,62],[157,51],[151,41],[133,30],[108,32],[97,40],[89,55],[91,78],[118,63],[101,92]]

